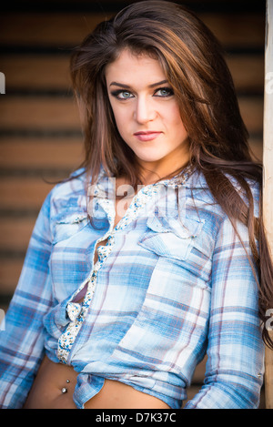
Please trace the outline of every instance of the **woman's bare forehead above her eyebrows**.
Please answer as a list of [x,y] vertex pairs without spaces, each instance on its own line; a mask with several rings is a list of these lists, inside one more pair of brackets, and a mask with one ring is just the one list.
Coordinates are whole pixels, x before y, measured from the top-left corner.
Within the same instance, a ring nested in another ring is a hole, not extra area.
[[157,58],[146,53],[135,54],[129,49],[124,49],[114,62],[106,66],[107,85],[112,80],[128,86],[136,82],[151,85],[166,78]]

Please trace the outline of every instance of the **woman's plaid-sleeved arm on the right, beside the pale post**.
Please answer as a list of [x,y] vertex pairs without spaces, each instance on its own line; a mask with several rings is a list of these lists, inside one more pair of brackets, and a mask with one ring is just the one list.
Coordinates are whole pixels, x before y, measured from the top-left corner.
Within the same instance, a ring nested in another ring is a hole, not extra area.
[[[248,229],[238,231],[249,254]],[[218,232],[211,283],[205,385],[185,408],[257,408],[264,356],[258,286],[228,219]]]

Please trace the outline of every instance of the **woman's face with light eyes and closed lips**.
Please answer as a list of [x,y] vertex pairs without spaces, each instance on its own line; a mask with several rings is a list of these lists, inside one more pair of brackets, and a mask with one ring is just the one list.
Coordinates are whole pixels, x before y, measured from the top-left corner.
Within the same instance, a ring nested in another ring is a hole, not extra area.
[[119,134],[143,168],[162,178],[187,164],[187,131],[157,59],[123,50],[106,66],[106,85]]

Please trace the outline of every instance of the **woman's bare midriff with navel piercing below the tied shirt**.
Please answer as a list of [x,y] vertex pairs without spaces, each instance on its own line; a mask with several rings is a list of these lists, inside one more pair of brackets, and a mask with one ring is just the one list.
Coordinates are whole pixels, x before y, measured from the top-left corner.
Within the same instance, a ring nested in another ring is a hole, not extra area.
[[[73,393],[78,373],[72,366],[50,361],[46,356],[25,402],[25,409],[76,409]],[[85,409],[169,409],[167,403],[113,380],[104,386]]]

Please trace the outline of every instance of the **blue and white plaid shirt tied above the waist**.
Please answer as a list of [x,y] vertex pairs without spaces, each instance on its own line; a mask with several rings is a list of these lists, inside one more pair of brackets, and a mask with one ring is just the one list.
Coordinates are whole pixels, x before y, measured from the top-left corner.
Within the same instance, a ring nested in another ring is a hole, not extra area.
[[[140,188],[116,227],[111,178],[101,174],[92,203],[85,184],[85,175],[58,184],[36,220],[0,331],[1,407],[23,406],[46,353],[78,372],[78,408],[107,378],[178,409],[207,353],[204,385],[186,408],[257,408],[258,288],[205,178]],[[253,194],[257,210],[255,185]],[[238,230],[250,253],[248,229]]]

